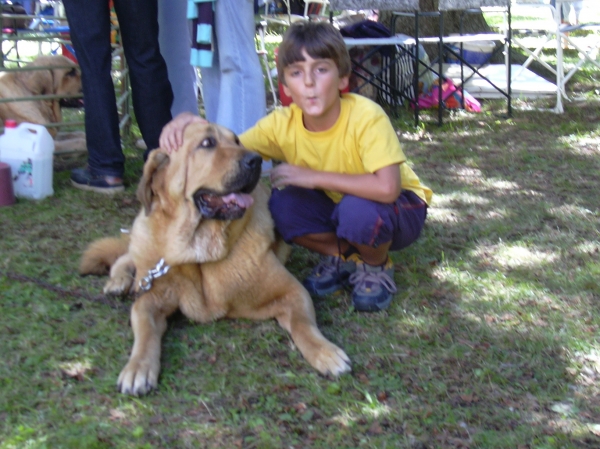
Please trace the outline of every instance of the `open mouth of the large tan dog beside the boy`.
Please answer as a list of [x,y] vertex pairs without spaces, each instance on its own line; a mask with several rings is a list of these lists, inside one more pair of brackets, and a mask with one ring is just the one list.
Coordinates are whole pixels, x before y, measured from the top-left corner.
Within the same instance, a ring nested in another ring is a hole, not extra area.
[[248,193],[219,195],[206,190],[194,194],[194,203],[204,218],[213,220],[237,220],[254,203]]

